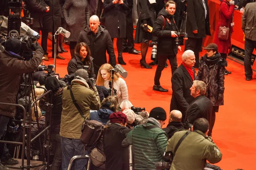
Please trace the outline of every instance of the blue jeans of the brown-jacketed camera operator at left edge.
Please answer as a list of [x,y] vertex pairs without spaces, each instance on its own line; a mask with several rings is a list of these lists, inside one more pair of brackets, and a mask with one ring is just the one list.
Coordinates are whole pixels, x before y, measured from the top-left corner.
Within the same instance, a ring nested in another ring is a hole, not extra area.
[[[10,120],[9,117],[0,115],[0,140],[3,140],[3,136],[6,132],[6,126],[9,120]],[[6,146],[6,143],[0,143],[0,157],[8,156],[8,155],[9,155],[9,150]]]

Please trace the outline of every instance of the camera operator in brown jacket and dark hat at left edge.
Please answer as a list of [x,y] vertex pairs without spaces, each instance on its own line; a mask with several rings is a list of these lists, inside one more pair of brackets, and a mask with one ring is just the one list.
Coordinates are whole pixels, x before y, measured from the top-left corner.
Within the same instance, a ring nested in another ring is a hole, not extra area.
[[[17,38],[9,38],[6,41],[5,50],[0,53],[0,102],[15,104],[22,74],[35,71],[40,64],[44,54],[43,49],[38,42],[33,44],[33,47],[35,48],[34,57],[30,61],[24,61],[19,55],[21,50],[20,41]],[[9,119],[14,116],[14,106],[0,105],[0,137],[3,136]],[[7,153],[7,155],[4,155],[5,159],[1,158],[1,161],[17,164],[18,162],[9,156],[9,152]]]

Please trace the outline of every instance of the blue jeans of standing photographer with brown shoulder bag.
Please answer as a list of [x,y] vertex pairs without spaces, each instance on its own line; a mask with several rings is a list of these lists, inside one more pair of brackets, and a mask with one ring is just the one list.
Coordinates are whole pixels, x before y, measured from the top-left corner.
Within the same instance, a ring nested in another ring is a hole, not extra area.
[[[61,137],[61,150],[62,150],[62,170],[67,170],[70,159],[73,156],[86,155],[84,151],[84,144],[80,139],[70,139]],[[77,159],[74,161],[73,170],[84,170],[87,160]]]

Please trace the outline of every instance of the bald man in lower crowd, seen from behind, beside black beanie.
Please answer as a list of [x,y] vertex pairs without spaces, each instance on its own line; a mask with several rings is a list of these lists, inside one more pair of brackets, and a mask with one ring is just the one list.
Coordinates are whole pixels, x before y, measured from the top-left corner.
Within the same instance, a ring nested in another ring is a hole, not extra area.
[[182,113],[177,110],[172,110],[169,116],[169,124],[166,128],[163,128],[164,131],[167,133],[168,139],[170,139],[173,134],[179,130],[185,130],[183,128],[183,123],[181,122]]

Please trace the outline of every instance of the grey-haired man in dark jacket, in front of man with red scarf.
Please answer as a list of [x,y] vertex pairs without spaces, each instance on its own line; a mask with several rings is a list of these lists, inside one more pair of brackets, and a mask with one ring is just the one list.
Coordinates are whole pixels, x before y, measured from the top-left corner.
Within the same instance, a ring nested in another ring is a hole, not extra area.
[[189,123],[193,124],[198,118],[205,118],[211,122],[212,102],[206,96],[206,84],[203,81],[195,80],[190,88],[191,96],[195,100],[189,105],[185,113],[184,127],[187,128]]

